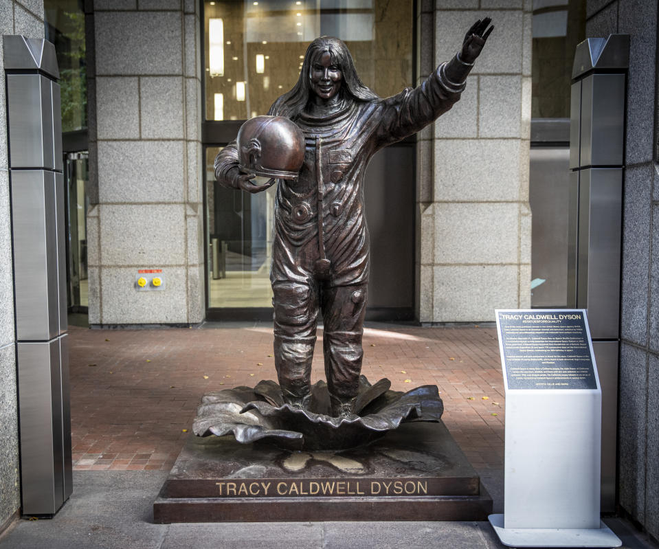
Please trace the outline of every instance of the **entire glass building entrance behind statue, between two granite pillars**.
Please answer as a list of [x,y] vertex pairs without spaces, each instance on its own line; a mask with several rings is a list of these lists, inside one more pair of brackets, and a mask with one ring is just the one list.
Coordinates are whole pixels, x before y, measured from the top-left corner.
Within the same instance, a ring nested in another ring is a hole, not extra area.
[[[209,319],[270,319],[276,188],[221,188],[213,160],[242,122],[297,82],[307,45],[341,38],[379,96],[414,85],[414,10],[407,0],[204,2],[205,228]],[[366,175],[371,240],[367,318],[414,317],[414,138],[376,155]]]

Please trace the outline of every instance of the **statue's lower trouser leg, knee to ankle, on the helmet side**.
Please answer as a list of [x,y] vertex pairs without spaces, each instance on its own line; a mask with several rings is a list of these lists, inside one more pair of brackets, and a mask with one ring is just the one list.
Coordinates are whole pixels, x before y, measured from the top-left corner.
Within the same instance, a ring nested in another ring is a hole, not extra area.
[[318,291],[298,282],[276,282],[272,291],[275,368],[282,396],[284,402],[306,407],[311,394]]

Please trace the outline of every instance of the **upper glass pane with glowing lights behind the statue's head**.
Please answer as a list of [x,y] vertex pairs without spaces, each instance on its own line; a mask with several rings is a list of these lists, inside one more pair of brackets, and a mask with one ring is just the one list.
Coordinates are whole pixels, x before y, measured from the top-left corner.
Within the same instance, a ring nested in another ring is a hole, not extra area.
[[[205,118],[247,120],[267,113],[295,85],[307,45],[341,38],[364,83],[386,97],[412,85],[409,0],[204,2]],[[214,97],[222,93],[223,113]]]

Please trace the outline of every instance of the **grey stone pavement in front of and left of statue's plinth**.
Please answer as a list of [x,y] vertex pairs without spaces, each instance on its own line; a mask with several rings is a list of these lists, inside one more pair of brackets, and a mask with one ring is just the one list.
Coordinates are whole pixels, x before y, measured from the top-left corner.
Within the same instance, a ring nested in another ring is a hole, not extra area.
[[[19,519],[0,549],[499,549],[488,522],[153,524],[166,471],[74,471],[74,493],[54,519]],[[267,520],[267,517],[264,517]],[[607,519],[626,549],[650,544]]]

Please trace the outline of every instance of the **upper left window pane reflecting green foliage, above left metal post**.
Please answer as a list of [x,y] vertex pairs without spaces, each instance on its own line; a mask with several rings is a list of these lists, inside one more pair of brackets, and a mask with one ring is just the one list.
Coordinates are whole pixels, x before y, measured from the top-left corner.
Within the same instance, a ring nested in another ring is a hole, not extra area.
[[55,45],[60,69],[62,131],[87,127],[85,14],[77,0],[44,0],[45,38]]

